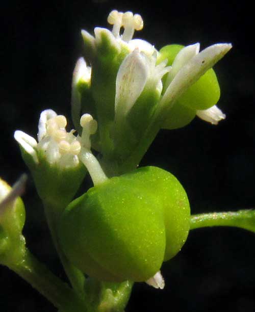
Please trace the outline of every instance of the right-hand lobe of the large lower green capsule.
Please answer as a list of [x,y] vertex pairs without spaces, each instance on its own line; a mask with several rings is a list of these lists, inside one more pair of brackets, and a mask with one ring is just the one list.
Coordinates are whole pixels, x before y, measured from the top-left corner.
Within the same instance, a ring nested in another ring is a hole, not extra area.
[[133,184],[136,181],[160,200],[166,232],[164,261],[171,259],[183,247],[190,229],[190,205],[184,188],[173,174],[158,167],[142,167],[122,178]]

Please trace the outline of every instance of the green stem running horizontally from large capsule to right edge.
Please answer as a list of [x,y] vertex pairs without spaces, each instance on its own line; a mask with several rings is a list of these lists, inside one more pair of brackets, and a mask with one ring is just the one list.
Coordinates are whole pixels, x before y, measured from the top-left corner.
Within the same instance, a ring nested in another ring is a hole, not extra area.
[[191,216],[190,229],[210,226],[235,226],[255,232],[255,210],[219,212]]

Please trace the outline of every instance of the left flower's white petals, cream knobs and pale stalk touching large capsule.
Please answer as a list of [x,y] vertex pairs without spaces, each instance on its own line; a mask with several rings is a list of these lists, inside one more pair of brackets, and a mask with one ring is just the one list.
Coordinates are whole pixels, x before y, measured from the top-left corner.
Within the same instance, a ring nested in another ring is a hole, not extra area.
[[90,136],[97,130],[97,122],[90,114],[84,114],[80,120],[81,137],[74,136],[74,130],[66,131],[65,116],[57,115],[53,110],[41,113],[38,124],[38,143],[22,131],[15,131],[14,138],[31,155],[35,164],[43,157],[50,165],[57,164],[65,169],[75,167],[81,161],[88,169],[94,185],[107,179],[90,148]]

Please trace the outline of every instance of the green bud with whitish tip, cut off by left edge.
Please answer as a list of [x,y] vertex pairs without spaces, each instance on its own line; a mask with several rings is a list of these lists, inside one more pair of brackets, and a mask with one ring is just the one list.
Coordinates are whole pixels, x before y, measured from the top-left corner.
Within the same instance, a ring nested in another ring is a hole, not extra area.
[[7,266],[20,262],[25,252],[25,209],[17,194],[19,187],[12,189],[0,178],[0,263]]

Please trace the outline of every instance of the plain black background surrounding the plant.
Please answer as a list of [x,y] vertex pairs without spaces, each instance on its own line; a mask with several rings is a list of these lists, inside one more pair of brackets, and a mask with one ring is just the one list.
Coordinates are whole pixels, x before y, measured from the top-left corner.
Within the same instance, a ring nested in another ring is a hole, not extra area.
[[[112,9],[140,13],[136,33],[156,48],[169,43],[232,42],[216,66],[218,106],[226,120],[212,126],[199,119],[176,131],[161,131],[141,165],[175,174],[185,187],[192,213],[255,206],[254,17],[248,1],[14,1],[1,5],[0,175],[14,183],[27,168],[13,140],[15,129],[33,136],[39,114],[70,112],[73,66],[81,56],[81,29],[107,27]],[[89,179],[87,182],[90,183]],[[56,274],[63,271],[48,236],[31,177],[24,195],[28,247]],[[255,311],[255,235],[235,228],[194,230],[183,250],[163,265],[163,291],[134,287],[131,311]],[[55,311],[41,295],[0,267],[1,311]]]

